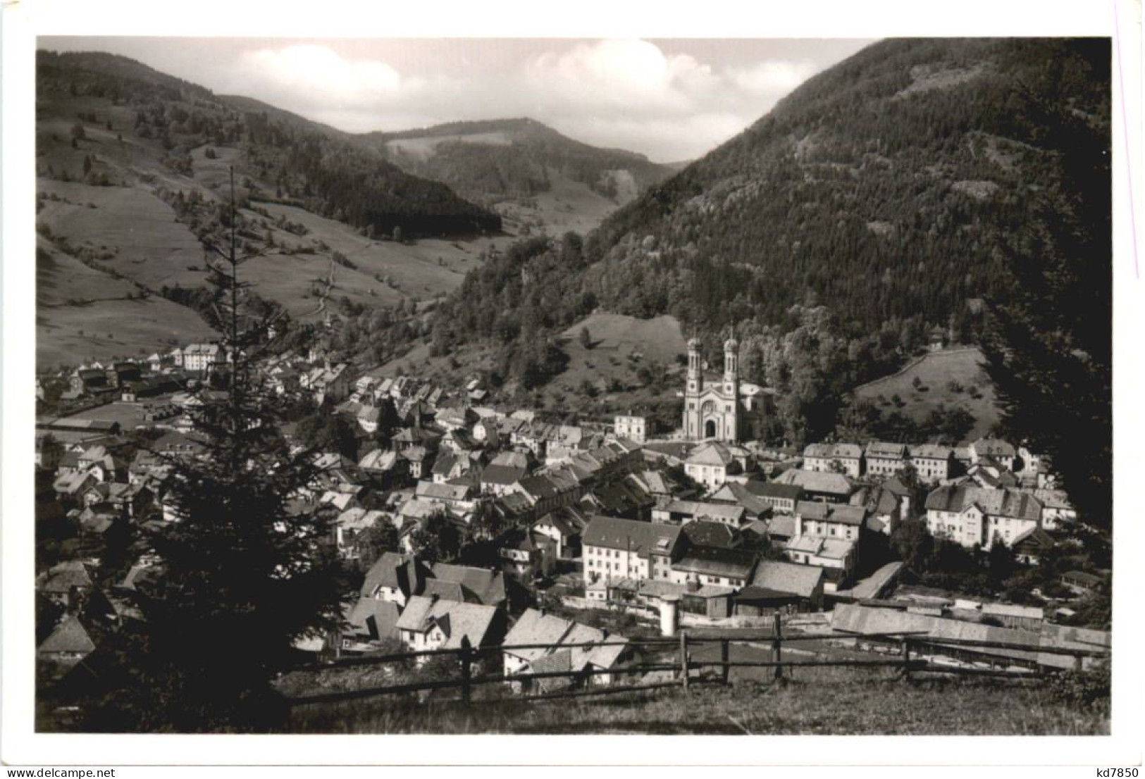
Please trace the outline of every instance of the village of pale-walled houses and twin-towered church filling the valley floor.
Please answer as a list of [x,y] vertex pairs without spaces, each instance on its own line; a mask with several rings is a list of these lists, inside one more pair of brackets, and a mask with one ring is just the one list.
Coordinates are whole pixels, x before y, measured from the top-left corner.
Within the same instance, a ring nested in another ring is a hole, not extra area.
[[[1079,614],[1107,594],[1107,571],[1061,571],[1018,602],[997,579],[993,591],[978,583],[992,567],[1012,578],[1047,556],[1079,557],[1097,534],[1045,458],[986,437],[803,451],[744,440],[747,418],[769,413],[769,396],[740,380],[734,337],[724,350],[722,373],[709,374],[689,342],[681,424],[662,436],[639,415],[568,424],[504,407],[477,380],[360,374],[321,345],[267,358],[259,369],[271,388],[352,421],[366,448],[357,461],[321,452],[321,478],[294,496],[299,511],[332,512],[329,544],[363,573],[341,629],[300,652],[331,661],[524,645],[504,651],[507,677],[563,668],[584,673],[561,686],[627,684],[632,675],[601,674],[639,658],[626,631],[726,629],[766,655],[760,629],[776,615],[793,634],[823,636],[824,658],[847,651],[840,635],[895,631],[926,635],[937,661],[966,668],[1074,660],[942,638],[1108,651],[1108,630]],[[50,614],[38,625],[38,658],[49,677],[82,673],[101,634],[161,586],[161,561],[123,554],[133,528],[179,522],[167,458],[202,456],[190,412],[218,392],[212,377],[227,365],[219,344],[195,343],[45,379],[66,412],[37,422],[37,527],[52,555],[37,579]],[[379,426],[386,446],[370,444]],[[905,577],[902,549],[923,535],[964,550],[960,573],[977,587],[960,591],[953,573],[946,587]]]

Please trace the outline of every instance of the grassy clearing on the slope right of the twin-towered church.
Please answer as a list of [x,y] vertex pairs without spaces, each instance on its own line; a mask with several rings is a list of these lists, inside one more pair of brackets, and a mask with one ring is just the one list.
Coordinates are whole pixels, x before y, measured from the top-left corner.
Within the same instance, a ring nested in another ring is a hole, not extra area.
[[[977,420],[968,434],[968,440],[974,440],[986,435],[998,421],[994,387],[982,369],[985,359],[982,352],[974,347],[927,353],[893,375],[856,387],[855,397],[871,400],[878,405],[879,411],[890,413],[894,406],[890,403],[883,405],[879,397],[890,402],[898,395],[906,403],[902,413],[915,420],[925,419],[940,405],[965,408]],[[916,377],[922,381],[918,389],[914,387]],[[957,390],[951,382],[962,389]],[[972,387],[978,388],[980,397],[970,396]]]

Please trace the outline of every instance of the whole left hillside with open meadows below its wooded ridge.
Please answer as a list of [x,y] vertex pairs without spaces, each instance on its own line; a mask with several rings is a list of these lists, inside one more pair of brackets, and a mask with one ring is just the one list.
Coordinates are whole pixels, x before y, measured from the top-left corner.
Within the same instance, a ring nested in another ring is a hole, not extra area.
[[[316,293],[366,307],[447,293],[510,240],[482,238],[500,218],[443,184],[256,101],[98,53],[41,51],[37,79],[41,365],[211,335],[160,294],[204,284],[200,241],[223,235],[231,167],[243,249],[274,255],[248,280],[300,318],[324,313]],[[402,241],[388,240],[395,226]],[[335,267],[335,252],[356,268]]]

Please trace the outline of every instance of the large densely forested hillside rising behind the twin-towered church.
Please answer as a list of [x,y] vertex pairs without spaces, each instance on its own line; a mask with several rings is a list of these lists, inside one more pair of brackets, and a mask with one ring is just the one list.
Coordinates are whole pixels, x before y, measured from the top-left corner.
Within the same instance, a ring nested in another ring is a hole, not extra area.
[[984,312],[1013,288],[1008,241],[1052,222],[1104,229],[1072,215],[1107,199],[1108,176],[1069,170],[1108,154],[1108,69],[1105,40],[868,47],[583,247],[554,241],[474,271],[441,309],[439,343],[496,337],[519,357],[514,333],[600,307],[676,315],[714,359],[732,325],[747,377],[781,392],[787,436],[826,435],[843,395],[932,328],[980,337]]

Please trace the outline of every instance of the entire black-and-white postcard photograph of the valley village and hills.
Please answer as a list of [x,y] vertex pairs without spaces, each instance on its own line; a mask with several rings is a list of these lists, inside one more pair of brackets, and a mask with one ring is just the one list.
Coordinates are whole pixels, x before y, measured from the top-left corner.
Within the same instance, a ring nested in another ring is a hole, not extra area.
[[38,33],[6,722],[1123,734],[1118,39],[862,32]]

